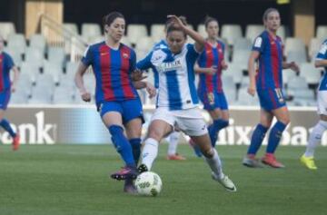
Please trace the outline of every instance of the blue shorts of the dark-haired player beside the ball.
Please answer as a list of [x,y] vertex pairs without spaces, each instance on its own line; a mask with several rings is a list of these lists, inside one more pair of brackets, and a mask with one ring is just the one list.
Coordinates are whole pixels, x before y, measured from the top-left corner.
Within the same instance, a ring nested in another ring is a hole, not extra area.
[[123,123],[130,122],[135,118],[141,118],[144,123],[143,108],[140,99],[124,100],[124,101],[104,101],[97,105],[98,112],[101,117],[107,112],[120,112],[122,114]]

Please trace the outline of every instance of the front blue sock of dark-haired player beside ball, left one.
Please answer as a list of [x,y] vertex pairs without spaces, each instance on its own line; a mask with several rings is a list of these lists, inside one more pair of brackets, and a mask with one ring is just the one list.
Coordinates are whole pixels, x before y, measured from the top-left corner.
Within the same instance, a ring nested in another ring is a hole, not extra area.
[[124,136],[123,128],[119,125],[111,125],[109,126],[108,130],[112,135],[112,141],[114,143],[114,147],[116,151],[120,153],[126,166],[132,166],[132,167],[136,166],[134,162],[134,156],[133,156],[131,144]]

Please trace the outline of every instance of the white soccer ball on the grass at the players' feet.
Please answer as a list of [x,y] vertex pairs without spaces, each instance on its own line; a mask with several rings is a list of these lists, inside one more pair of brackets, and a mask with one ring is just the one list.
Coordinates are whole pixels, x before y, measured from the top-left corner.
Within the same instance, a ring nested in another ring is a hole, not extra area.
[[140,195],[157,196],[163,187],[159,175],[153,171],[145,171],[137,176],[135,187]]

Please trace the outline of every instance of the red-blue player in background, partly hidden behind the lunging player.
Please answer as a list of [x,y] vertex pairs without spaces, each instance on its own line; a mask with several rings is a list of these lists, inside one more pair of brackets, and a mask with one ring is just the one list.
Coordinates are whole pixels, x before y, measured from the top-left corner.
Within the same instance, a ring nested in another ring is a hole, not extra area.
[[205,31],[208,34],[203,53],[195,66],[195,73],[200,73],[198,96],[203,108],[209,112],[213,123],[208,127],[213,147],[217,142],[218,132],[229,124],[228,104],[223,93],[222,71],[227,69],[224,61],[224,44],[219,41],[218,21],[213,17],[206,17]]

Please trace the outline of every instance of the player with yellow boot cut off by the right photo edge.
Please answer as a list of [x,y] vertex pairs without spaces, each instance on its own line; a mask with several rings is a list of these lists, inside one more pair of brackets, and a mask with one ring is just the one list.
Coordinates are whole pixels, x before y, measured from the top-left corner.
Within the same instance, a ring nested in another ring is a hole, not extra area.
[[314,163],[313,155],[315,148],[322,141],[322,134],[327,130],[327,40],[325,40],[316,56],[314,65],[323,67],[324,74],[321,83],[318,86],[317,103],[319,122],[314,126],[312,133],[309,136],[309,142],[306,151],[301,157],[301,162],[310,170],[317,170]]

